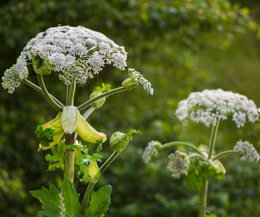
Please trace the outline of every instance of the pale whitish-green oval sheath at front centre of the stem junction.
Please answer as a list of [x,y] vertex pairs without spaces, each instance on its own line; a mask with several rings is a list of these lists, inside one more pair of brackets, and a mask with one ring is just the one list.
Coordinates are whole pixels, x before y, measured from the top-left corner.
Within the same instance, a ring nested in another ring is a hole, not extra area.
[[66,106],[61,115],[61,125],[64,133],[73,133],[78,126],[78,109],[75,106]]

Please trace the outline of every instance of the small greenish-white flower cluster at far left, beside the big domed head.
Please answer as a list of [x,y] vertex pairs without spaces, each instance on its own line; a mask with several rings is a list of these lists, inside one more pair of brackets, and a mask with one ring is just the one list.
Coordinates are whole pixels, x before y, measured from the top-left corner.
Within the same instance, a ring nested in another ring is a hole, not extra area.
[[[26,66],[25,66],[26,67]],[[13,93],[14,89],[17,88],[21,81],[27,76],[28,71],[17,71],[16,65],[14,64],[11,68],[5,70],[3,80],[3,88],[8,89],[8,93]]]

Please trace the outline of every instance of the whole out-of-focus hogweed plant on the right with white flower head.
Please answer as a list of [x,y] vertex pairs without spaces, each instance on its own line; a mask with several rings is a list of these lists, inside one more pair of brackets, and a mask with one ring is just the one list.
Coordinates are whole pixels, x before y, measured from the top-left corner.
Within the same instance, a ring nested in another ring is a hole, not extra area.
[[[173,178],[183,177],[187,188],[200,191],[199,217],[205,217],[208,181],[212,177],[219,179],[225,177],[226,170],[220,159],[230,154],[241,155],[240,160],[242,161],[257,162],[260,158],[256,149],[248,141],[238,141],[233,150],[216,153],[219,122],[232,116],[236,127],[240,128],[244,126],[246,119],[252,123],[258,121],[259,109],[252,100],[248,100],[244,95],[217,89],[191,93],[187,99],[179,102],[175,114],[180,121],[189,117],[207,127],[212,125],[209,145],[197,147],[187,142],[176,141],[161,144],[159,141],[151,141],[144,150],[143,160],[145,163],[149,163],[152,156],[157,156],[159,151],[166,148],[181,145],[189,148],[191,150],[189,153],[178,150],[171,153],[168,156],[167,170],[172,173]],[[215,215],[211,213],[207,216]]]

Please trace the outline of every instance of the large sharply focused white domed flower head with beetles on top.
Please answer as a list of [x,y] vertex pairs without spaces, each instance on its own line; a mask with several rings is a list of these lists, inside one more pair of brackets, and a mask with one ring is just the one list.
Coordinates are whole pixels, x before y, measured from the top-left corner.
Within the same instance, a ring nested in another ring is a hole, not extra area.
[[[114,63],[114,66],[122,70],[127,66],[127,52],[124,47],[115,44],[105,35],[82,26],[49,28],[46,32],[41,32],[31,39],[17,60],[16,71],[19,74],[25,74],[25,66],[33,56],[39,58],[43,63],[52,61],[52,70],[61,72],[77,59],[84,61],[89,73],[94,74],[98,74],[105,63]],[[14,71],[13,67],[12,71]],[[3,78],[6,76],[10,78],[10,70],[5,72]],[[66,75],[64,76],[66,77]],[[63,77],[61,78],[64,80]],[[15,83],[15,80],[5,79],[4,83],[8,88],[14,86],[12,83]],[[17,86],[19,84],[16,83],[15,87]],[[12,92],[13,89],[9,91]]]

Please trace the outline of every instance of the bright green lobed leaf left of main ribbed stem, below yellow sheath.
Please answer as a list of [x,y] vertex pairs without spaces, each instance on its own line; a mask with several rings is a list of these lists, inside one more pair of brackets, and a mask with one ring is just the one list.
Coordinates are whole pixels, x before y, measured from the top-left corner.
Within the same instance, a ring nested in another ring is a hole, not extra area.
[[58,142],[57,147],[53,146],[50,148],[50,150],[52,151],[52,155],[47,154],[45,156],[45,160],[54,161],[56,163],[50,164],[48,166],[48,170],[54,171],[55,168],[61,168],[64,170],[65,151],[61,140]]

